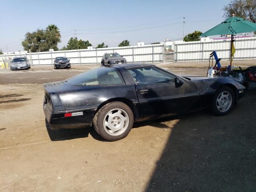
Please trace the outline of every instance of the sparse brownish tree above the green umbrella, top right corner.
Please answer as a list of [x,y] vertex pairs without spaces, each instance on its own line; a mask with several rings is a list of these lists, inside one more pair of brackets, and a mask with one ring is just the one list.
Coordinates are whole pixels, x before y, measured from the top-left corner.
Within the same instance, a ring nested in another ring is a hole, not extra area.
[[235,14],[237,17],[256,23],[256,0],[232,0],[223,10],[224,18]]

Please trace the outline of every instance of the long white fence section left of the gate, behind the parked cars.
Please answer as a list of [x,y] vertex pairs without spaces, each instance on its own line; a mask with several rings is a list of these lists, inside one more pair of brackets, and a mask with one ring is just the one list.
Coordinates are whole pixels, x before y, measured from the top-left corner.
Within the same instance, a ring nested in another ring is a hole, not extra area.
[[163,44],[126,46],[99,49],[66,50],[54,52],[36,52],[27,54],[0,55],[0,59],[26,56],[33,65],[51,65],[54,58],[64,56],[70,59],[71,64],[101,64],[104,53],[118,52],[127,62],[162,62]]

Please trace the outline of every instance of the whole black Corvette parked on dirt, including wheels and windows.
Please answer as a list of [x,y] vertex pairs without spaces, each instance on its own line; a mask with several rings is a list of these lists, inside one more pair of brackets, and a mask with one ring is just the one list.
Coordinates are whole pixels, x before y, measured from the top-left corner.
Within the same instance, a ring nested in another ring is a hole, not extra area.
[[102,138],[128,135],[134,121],[211,108],[226,115],[245,87],[225,78],[178,76],[152,64],[106,65],[61,82],[44,84],[52,130],[94,125]]

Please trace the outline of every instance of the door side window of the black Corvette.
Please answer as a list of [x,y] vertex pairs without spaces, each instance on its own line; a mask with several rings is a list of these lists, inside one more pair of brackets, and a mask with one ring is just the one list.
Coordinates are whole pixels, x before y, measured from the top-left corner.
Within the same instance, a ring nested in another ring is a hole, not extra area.
[[174,82],[175,76],[154,67],[128,70],[137,84],[156,84]]

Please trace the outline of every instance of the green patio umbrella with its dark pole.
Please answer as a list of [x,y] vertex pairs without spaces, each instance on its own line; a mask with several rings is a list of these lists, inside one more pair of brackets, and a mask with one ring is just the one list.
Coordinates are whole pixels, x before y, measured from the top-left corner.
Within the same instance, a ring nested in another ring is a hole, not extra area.
[[221,24],[218,24],[214,28],[206,31],[201,36],[205,37],[212,35],[231,34],[230,66],[232,66],[232,44],[234,42],[234,34],[253,31],[256,31],[255,23],[247,21],[240,17],[232,16],[227,20],[223,21]]

